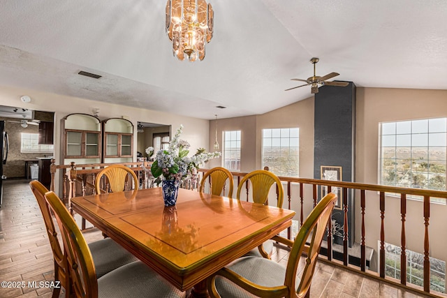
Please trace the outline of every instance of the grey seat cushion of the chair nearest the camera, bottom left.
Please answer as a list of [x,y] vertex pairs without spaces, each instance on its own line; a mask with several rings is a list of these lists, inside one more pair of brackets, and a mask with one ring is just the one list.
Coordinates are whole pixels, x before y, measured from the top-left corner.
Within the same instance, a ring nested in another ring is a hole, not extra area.
[[136,261],[99,278],[98,297],[183,298],[186,293],[175,288],[143,262]]

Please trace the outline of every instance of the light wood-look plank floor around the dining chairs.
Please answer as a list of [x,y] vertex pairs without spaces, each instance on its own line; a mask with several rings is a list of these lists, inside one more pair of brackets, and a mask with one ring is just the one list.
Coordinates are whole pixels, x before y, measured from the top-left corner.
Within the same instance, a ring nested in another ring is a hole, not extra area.
[[[101,239],[101,232],[85,233],[87,241]],[[286,264],[288,251],[276,248],[272,259]],[[33,288],[29,283],[52,281],[53,260],[45,224],[34,195],[25,180],[3,183],[0,208],[0,281],[16,288],[0,288],[0,297],[51,297],[50,288]],[[24,283],[23,283],[24,282]],[[22,286],[24,285],[24,286]],[[60,297],[64,297],[61,291]],[[423,297],[360,274],[318,263],[311,297]],[[230,298],[230,297],[225,297]]]

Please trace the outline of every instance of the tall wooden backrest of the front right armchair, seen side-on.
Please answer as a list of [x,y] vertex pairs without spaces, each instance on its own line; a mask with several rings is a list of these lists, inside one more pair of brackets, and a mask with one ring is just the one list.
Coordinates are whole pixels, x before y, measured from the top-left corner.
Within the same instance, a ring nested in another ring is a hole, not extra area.
[[[295,237],[295,243],[293,244],[291,253],[288,257],[284,285],[291,289],[291,292],[293,292],[292,289],[296,290],[296,297],[305,297],[310,288],[316,260],[321,247],[321,241],[326,234],[325,231],[328,227],[328,221],[330,221],[336,201],[337,195],[334,193],[325,195],[325,197],[316,204],[316,207],[312,210],[309,216],[307,216],[300,228],[300,232],[298,232],[298,235]],[[307,246],[306,242],[310,234],[312,234],[312,237],[309,246]],[[302,270],[300,285],[298,286],[298,289],[295,289],[298,262],[300,261],[303,252],[307,253],[304,262],[305,267]]]

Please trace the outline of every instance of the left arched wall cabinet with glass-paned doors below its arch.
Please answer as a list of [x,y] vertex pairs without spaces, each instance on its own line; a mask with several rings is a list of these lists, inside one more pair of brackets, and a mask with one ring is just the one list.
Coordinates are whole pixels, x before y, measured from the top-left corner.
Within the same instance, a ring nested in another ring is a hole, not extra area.
[[101,160],[101,122],[89,114],[69,114],[64,126],[64,158]]

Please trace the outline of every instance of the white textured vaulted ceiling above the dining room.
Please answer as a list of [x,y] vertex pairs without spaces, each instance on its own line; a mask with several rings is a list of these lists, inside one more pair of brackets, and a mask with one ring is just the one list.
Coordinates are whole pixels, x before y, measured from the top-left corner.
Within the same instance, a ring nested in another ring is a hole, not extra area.
[[3,0],[0,85],[203,119],[309,98],[284,89],[312,57],[317,75],[358,87],[447,89],[445,0],[209,2],[214,37],[190,63],[173,57],[164,0]]

